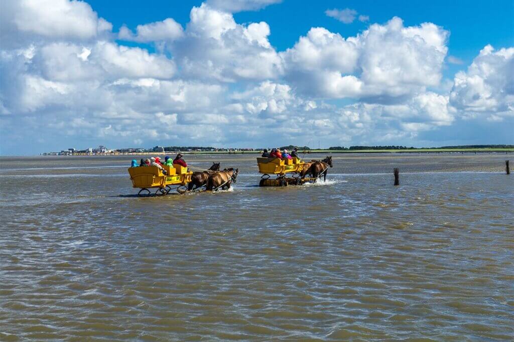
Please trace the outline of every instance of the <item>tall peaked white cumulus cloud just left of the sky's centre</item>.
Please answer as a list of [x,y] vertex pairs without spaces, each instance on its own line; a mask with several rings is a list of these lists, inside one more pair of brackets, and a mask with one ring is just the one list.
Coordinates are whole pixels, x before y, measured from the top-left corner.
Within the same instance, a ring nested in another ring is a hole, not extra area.
[[183,39],[170,45],[183,74],[235,82],[277,77],[282,61],[268,41],[268,24],[236,24],[230,13],[193,7]]

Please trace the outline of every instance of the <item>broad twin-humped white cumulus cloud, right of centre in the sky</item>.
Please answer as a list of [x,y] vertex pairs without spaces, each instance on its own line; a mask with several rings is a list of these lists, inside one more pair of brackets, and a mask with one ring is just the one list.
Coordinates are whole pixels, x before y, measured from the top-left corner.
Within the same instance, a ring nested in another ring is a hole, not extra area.
[[282,57],[286,78],[304,93],[387,102],[439,84],[447,38],[439,26],[404,27],[395,17],[348,38],[310,29]]

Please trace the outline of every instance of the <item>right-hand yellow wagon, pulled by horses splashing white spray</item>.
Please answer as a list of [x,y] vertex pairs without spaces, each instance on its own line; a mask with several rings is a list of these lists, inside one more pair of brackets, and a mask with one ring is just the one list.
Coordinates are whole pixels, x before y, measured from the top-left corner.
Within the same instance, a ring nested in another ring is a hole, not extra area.
[[[288,185],[302,185],[304,183],[315,183],[317,178],[302,178],[305,163],[300,158],[280,159],[276,157],[258,157],[257,165],[259,173],[262,173],[259,186],[261,187],[285,187]],[[290,177],[287,175],[290,174]],[[271,178],[270,175],[277,175]]]

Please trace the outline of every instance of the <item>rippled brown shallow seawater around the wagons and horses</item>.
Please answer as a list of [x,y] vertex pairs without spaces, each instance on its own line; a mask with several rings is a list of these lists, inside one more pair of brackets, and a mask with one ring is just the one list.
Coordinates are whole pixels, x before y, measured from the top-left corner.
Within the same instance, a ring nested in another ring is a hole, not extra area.
[[511,340],[508,157],[334,155],[259,188],[255,155],[186,156],[238,182],[154,198],[131,156],[1,158],[0,340]]

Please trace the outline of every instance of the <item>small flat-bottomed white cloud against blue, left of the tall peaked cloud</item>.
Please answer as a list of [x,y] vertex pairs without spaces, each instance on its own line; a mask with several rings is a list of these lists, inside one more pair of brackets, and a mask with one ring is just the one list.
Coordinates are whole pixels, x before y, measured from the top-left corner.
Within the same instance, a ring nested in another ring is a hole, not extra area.
[[125,41],[148,43],[157,41],[175,41],[182,35],[182,26],[175,22],[172,18],[167,18],[162,22],[138,25],[136,27],[135,35],[126,26],[122,26],[118,37]]

